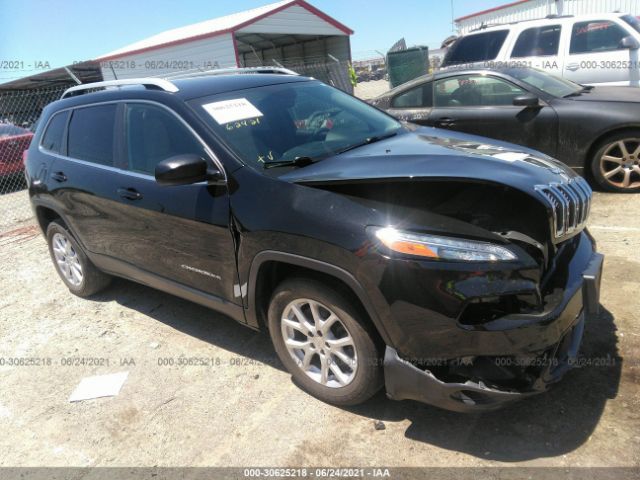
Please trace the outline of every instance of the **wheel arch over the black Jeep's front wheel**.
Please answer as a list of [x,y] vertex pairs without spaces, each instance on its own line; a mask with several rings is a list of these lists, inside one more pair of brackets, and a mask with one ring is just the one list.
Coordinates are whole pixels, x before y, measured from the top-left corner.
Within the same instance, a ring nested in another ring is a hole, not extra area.
[[331,280],[332,287],[337,287],[357,302],[356,307],[366,315],[382,341],[391,345],[384,324],[365,289],[351,273],[321,260],[275,250],[258,253],[249,269],[247,322],[250,326],[266,329],[266,312],[271,293],[281,280],[295,274]]

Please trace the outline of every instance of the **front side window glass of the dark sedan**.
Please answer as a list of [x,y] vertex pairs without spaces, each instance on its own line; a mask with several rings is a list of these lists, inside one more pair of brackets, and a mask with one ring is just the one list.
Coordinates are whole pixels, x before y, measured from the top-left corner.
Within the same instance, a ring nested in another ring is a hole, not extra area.
[[526,93],[496,77],[461,75],[438,80],[434,88],[436,107],[513,105],[513,98]]

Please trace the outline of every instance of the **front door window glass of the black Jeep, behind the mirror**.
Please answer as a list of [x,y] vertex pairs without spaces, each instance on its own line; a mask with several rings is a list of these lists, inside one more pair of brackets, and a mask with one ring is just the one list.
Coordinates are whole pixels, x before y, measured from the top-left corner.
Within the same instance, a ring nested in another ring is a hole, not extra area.
[[153,175],[162,160],[182,154],[207,158],[202,144],[175,115],[147,104],[127,104],[125,130],[128,168]]

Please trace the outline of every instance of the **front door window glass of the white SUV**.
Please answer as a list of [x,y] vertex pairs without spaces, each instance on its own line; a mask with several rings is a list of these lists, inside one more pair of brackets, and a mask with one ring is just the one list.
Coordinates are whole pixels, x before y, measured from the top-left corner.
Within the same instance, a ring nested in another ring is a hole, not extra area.
[[570,54],[621,50],[621,40],[629,35],[620,25],[609,20],[577,22],[571,32]]

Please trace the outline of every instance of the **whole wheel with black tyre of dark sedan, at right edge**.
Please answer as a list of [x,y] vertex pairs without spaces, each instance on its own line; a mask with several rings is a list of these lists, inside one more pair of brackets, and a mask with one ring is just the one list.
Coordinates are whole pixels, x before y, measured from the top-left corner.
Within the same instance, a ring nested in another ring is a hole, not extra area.
[[640,131],[622,132],[600,143],[591,173],[604,190],[640,192]]

